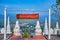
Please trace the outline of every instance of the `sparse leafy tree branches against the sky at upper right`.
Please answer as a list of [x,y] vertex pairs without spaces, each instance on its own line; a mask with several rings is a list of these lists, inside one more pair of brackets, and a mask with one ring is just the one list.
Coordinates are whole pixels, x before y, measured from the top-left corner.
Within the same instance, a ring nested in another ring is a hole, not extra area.
[[56,0],[56,4],[53,4],[51,8],[52,16],[55,17],[57,21],[60,23],[60,0]]

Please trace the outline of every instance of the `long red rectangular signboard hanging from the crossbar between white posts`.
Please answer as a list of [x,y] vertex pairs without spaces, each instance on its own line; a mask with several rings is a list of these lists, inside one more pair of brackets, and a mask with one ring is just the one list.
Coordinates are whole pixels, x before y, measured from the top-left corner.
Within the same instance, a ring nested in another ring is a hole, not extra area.
[[34,13],[34,14],[17,14],[16,15],[17,19],[37,19],[39,18],[39,14]]

